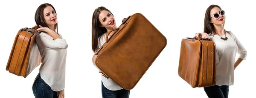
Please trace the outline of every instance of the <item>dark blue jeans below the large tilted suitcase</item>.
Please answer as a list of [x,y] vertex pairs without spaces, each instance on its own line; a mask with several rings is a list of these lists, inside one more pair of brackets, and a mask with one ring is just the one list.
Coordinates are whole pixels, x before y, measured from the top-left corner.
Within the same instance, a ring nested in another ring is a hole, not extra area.
[[102,83],[102,98],[129,98],[130,90],[108,90]]

